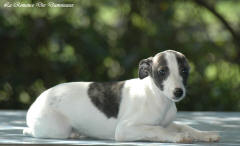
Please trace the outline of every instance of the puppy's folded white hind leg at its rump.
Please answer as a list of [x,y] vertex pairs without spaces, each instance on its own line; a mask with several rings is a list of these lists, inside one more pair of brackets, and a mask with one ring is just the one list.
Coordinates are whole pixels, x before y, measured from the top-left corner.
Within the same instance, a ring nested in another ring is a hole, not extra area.
[[37,138],[69,138],[72,127],[68,119],[51,108],[43,110],[37,113],[32,111],[28,113],[27,125],[29,128],[24,130],[23,133]]

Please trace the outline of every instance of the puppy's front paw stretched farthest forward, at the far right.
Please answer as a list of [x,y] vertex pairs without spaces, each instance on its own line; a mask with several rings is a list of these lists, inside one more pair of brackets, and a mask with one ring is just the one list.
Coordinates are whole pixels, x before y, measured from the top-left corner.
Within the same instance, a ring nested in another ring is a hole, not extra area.
[[203,131],[201,132],[201,135],[202,135],[201,141],[218,142],[220,140],[220,136],[218,132]]

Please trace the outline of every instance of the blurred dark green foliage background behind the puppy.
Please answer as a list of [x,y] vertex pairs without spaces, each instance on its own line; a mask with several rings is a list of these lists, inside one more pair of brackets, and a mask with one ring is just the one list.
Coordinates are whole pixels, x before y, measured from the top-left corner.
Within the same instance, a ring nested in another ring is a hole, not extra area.
[[[180,110],[240,110],[240,45],[197,1],[46,0],[73,8],[3,7],[0,2],[0,109],[26,109],[62,82],[137,77],[138,62],[174,49],[191,63]],[[207,2],[240,36],[240,1]],[[239,40],[240,41],[240,40]]]

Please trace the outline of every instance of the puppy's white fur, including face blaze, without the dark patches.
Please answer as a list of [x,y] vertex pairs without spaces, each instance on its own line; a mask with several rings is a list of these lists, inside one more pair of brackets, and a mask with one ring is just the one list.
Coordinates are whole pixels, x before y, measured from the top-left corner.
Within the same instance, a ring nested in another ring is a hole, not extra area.
[[69,138],[72,129],[80,134],[117,141],[148,140],[159,142],[217,141],[212,132],[201,132],[173,123],[174,88],[181,87],[176,59],[167,55],[170,76],[161,91],[151,77],[125,81],[117,118],[108,119],[88,97],[90,82],[57,85],[43,92],[27,113],[25,135],[38,138]]

